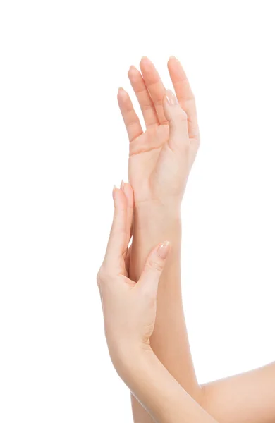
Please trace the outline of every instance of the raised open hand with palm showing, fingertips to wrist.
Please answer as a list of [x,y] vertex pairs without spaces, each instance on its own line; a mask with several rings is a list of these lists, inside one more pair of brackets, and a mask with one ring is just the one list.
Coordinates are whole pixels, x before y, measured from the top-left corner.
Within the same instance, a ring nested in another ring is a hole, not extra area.
[[145,119],[145,132],[128,93],[118,90],[118,104],[130,140],[129,180],[135,205],[152,200],[180,204],[200,145],[195,98],[176,58],[168,62],[176,97],[165,90],[149,59],[142,58],[140,68],[142,75],[130,66],[128,77]]

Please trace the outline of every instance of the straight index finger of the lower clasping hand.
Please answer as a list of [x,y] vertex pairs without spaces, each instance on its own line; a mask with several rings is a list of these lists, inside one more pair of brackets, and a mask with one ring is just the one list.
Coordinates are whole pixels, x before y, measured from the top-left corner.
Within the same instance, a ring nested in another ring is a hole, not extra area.
[[[121,260],[124,252],[127,250],[127,199],[124,192],[114,188],[114,219],[111,226],[109,242],[104,257],[104,263],[110,269],[118,269],[124,260]],[[122,271],[123,269],[119,269]]]

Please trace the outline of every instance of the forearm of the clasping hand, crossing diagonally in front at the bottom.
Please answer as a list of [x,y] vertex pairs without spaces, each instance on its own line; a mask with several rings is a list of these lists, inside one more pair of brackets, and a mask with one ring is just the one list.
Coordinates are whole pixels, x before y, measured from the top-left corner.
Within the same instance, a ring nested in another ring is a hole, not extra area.
[[[131,353],[123,362],[126,384],[157,423],[213,423],[215,420],[181,387],[152,351]],[[133,358],[134,357],[134,358]]]

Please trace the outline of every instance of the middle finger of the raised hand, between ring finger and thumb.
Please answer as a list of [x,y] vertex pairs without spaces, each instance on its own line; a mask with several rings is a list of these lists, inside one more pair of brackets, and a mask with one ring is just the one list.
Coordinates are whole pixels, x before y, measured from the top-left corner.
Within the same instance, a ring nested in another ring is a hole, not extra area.
[[149,94],[154,102],[154,108],[157,111],[159,123],[161,125],[167,123],[166,116],[164,114],[164,107],[162,104],[165,88],[161,78],[159,77],[159,73],[157,73],[157,69],[154,67],[152,61],[143,56],[140,61],[140,70],[147,86],[147,90],[149,91]]

